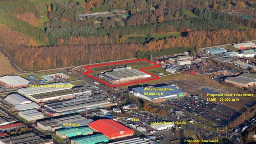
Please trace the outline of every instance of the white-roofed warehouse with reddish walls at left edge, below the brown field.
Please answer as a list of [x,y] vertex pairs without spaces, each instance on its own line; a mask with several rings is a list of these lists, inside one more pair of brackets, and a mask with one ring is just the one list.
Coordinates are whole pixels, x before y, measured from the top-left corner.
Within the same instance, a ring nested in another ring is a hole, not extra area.
[[0,84],[4,85],[5,87],[10,87],[10,88],[24,87],[24,86],[28,86],[29,83],[30,81],[20,76],[0,77]]

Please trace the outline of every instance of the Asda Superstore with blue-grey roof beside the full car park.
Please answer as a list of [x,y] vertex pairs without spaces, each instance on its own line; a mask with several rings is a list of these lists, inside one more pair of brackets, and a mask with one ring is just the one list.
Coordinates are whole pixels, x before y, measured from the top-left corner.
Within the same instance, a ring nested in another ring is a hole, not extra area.
[[132,93],[136,97],[143,98],[153,103],[162,102],[165,100],[179,99],[187,95],[187,92],[184,92],[171,85],[160,87],[137,87],[132,88],[129,93]]

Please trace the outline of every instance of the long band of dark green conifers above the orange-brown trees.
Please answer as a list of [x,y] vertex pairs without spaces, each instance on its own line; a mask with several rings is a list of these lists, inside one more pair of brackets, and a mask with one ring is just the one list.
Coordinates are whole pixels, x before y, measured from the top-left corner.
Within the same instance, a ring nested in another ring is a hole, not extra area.
[[[183,29],[183,30],[182,30]],[[61,27],[61,28],[47,28],[46,35],[48,35],[49,44],[58,45],[57,39],[63,39],[62,44],[66,44],[66,40],[72,37],[102,37],[109,36],[110,43],[114,43],[120,36],[127,35],[141,35],[149,33],[161,33],[172,31],[199,31],[199,30],[216,30],[216,29],[237,29],[237,25],[221,21],[208,20],[204,18],[198,19],[182,19],[169,20],[161,23],[146,24],[139,26],[123,26],[114,28],[93,28],[92,26],[83,27]]]

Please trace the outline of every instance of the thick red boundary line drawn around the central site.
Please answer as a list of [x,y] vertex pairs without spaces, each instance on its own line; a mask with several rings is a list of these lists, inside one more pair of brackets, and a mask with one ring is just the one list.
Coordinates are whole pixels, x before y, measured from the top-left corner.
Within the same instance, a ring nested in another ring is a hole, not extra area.
[[[145,79],[145,80],[139,80],[139,81],[135,81],[135,82],[128,82],[128,83],[123,83],[123,84],[111,85],[111,84],[108,84],[108,83],[106,83],[106,82],[104,82],[104,81],[102,81],[102,80],[100,80],[100,79],[98,79],[98,78],[96,78],[96,77],[91,76],[91,75],[88,74],[88,73],[92,73],[92,70],[90,69],[90,67],[100,67],[100,66],[107,66],[107,65],[120,64],[120,63],[127,63],[127,62],[135,62],[135,61],[143,61],[143,60],[146,60],[146,61],[148,61],[148,62],[150,62],[150,63],[153,63],[155,66],[153,66],[153,67],[148,67],[148,68],[141,68],[140,71],[142,71],[142,72],[144,72],[144,73],[147,73],[147,74],[149,74],[150,76],[153,76],[154,78],[149,78],[149,79]],[[103,84],[106,84],[106,85],[108,85],[108,86],[110,86],[110,87],[116,87],[116,86],[122,86],[122,85],[127,85],[127,84],[135,84],[135,83],[140,83],[140,82],[146,82],[146,81],[151,81],[151,80],[159,79],[158,76],[153,75],[153,74],[151,74],[151,73],[148,73],[148,72],[146,72],[146,71],[144,71],[144,70],[145,70],[145,69],[150,69],[150,68],[157,68],[157,67],[160,67],[160,66],[161,66],[161,65],[159,65],[159,64],[157,64],[157,63],[155,63],[155,62],[153,62],[153,61],[147,60],[147,59],[126,60],[126,61],[119,61],[119,62],[110,62],[110,63],[105,63],[105,64],[96,64],[96,65],[92,65],[92,66],[85,66],[84,68],[87,69],[88,72],[84,72],[84,75],[89,76],[89,77],[93,78],[94,80],[99,81],[99,82],[101,82],[101,83],[103,83]]]

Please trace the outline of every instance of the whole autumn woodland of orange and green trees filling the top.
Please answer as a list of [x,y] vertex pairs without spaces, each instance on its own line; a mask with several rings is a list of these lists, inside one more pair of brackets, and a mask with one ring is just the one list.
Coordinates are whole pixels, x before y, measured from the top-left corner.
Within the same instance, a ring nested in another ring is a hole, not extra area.
[[[106,15],[79,16],[103,7],[100,12]],[[197,48],[255,39],[256,19],[224,11],[255,7],[254,0],[54,0],[44,5],[0,0],[0,43],[24,70],[87,64],[89,59],[193,55]],[[38,27],[42,16],[46,20]],[[153,36],[162,33],[170,36]],[[29,46],[30,38],[49,46]]]

